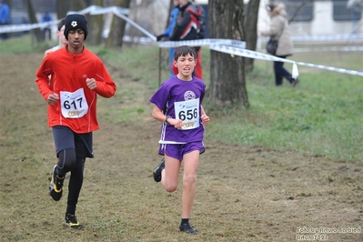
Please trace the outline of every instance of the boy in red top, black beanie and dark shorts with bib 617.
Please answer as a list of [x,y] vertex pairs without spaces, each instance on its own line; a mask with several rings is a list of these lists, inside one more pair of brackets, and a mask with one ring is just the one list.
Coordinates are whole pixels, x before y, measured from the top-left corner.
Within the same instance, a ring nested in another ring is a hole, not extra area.
[[62,197],[66,173],[71,172],[66,225],[81,228],[76,219],[76,204],[86,157],[94,157],[92,132],[98,129],[97,95],[114,96],[116,85],[102,61],[84,45],[87,36],[84,15],[66,16],[65,36],[68,45],[45,56],[35,83],[48,104],[48,126],[53,129],[59,158],[52,172],[50,196],[55,201]]

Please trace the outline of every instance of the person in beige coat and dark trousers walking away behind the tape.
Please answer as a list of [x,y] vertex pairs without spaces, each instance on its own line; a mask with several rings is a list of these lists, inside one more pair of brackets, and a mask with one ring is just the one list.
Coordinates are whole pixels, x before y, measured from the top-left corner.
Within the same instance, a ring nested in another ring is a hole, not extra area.
[[[275,3],[267,5],[268,15],[271,17],[269,30],[260,31],[260,35],[270,36],[271,39],[278,40],[276,56],[286,58],[293,54],[294,45],[292,44],[290,32],[288,29],[287,12],[283,5]],[[281,86],[283,77],[291,84],[296,86],[297,78],[293,78],[290,73],[284,68],[284,62],[274,61],[275,83],[276,86]]]

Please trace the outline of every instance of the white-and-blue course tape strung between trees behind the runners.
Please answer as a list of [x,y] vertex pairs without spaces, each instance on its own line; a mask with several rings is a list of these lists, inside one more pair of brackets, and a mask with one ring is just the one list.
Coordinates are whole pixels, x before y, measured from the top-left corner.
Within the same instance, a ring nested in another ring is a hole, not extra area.
[[[293,77],[298,76],[297,71],[297,65],[301,66],[310,66],[310,67],[316,67],[320,69],[325,69],[328,71],[335,71],[339,73],[345,73],[355,76],[363,76],[363,72],[354,71],[354,70],[348,70],[343,68],[337,68],[337,67],[331,67],[331,66],[321,66],[321,65],[315,65],[315,64],[309,64],[309,63],[303,63],[303,62],[295,62],[291,60],[287,60],[284,58],[278,58],[274,55],[266,55],[262,53],[258,53],[256,51],[247,50],[246,49],[246,43],[243,41],[238,40],[232,40],[232,39],[199,39],[199,40],[189,40],[189,41],[166,41],[166,42],[156,42],[156,36],[150,34],[146,31],[143,27],[140,25],[137,25],[133,20],[128,18],[126,15],[129,14],[129,10],[126,8],[118,7],[118,6],[110,6],[110,7],[101,7],[98,5],[91,5],[81,11],[78,12],[68,12],[68,14],[71,13],[79,13],[79,14],[90,14],[90,15],[104,15],[108,13],[113,13],[114,15],[117,15],[118,17],[124,19],[127,23],[130,25],[134,25],[138,30],[140,30],[142,33],[144,33],[146,36],[148,36],[152,42],[156,43],[161,48],[166,47],[177,47],[180,45],[191,45],[191,46],[202,46],[202,45],[209,45],[209,48],[218,52],[226,53],[229,55],[239,55],[244,56],[248,58],[255,58],[255,59],[261,59],[261,60],[267,60],[267,61],[281,61],[281,62],[287,62],[291,63],[293,65],[292,73],[291,75]],[[10,33],[10,32],[20,32],[25,30],[30,30],[34,28],[44,28],[49,25],[57,25],[60,20],[55,20],[52,22],[47,23],[39,23],[39,24],[30,24],[30,25],[2,25],[0,26],[0,33]],[[313,36],[310,37],[311,41],[322,41],[323,39],[325,41],[328,40],[338,40],[338,39],[344,39],[347,40],[351,39],[352,36],[357,37],[358,39],[361,39],[363,35],[336,35],[336,36]],[[304,39],[304,38],[303,38]],[[305,38],[305,40],[307,40]],[[302,40],[302,39],[300,39]]]

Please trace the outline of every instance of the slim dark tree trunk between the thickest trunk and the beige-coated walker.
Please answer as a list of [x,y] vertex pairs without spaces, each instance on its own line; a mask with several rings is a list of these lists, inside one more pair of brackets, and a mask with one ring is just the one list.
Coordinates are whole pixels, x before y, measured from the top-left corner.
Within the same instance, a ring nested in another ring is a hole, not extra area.
[[[246,18],[246,48],[256,50],[257,45],[257,20],[260,0],[250,0],[247,8]],[[247,71],[253,69],[254,58],[245,59],[245,68]]]

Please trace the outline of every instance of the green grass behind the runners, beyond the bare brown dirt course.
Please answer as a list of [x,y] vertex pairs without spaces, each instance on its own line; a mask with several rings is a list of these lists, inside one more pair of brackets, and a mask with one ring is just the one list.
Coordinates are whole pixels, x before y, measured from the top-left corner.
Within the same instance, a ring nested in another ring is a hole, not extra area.
[[[0,43],[0,54],[43,51],[48,45],[32,46],[28,37]],[[117,91],[116,103],[106,116],[114,122],[149,116],[147,97],[158,86],[156,46],[124,46],[122,50],[91,47],[97,55],[115,66],[110,72],[131,79],[136,86]],[[299,53],[291,59],[325,66],[363,70],[361,53]],[[167,78],[167,50],[162,52],[162,77]],[[209,85],[209,50],[203,50],[204,79]],[[291,69],[291,65],[286,65]],[[210,112],[207,138],[247,146],[296,149],[345,160],[363,160],[363,78],[299,66],[301,83],[296,88],[274,86],[272,63],[256,61],[247,75],[250,109],[235,106]],[[137,82],[141,80],[140,83]],[[141,89],[140,89],[141,88]],[[208,111],[210,104],[205,102]],[[221,113],[223,115],[221,115]],[[223,117],[223,118],[222,118]]]

